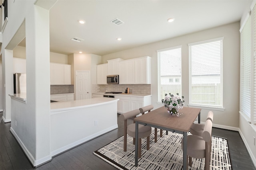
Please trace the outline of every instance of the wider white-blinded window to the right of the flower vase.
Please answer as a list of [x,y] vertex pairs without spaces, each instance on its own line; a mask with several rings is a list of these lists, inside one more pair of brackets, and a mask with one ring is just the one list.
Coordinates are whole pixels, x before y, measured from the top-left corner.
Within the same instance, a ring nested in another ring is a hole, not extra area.
[[191,105],[223,107],[222,41],[223,37],[188,44]]

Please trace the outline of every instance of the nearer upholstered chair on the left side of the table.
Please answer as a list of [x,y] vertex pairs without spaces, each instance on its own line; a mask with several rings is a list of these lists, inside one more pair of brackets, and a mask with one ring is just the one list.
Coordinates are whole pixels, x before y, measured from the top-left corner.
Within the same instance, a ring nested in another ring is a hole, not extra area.
[[[130,137],[135,138],[135,122],[127,125],[127,119],[134,119],[136,115],[140,114],[140,110],[132,110],[128,111],[126,113],[123,113],[119,116],[120,121],[124,121],[124,152],[126,152],[127,149],[127,134]],[[149,150],[149,143],[150,143],[150,135],[151,135],[151,127],[150,126],[144,126],[141,124],[138,124],[138,158],[141,158],[141,139],[147,138],[147,150]],[[134,142],[133,142],[134,144]]]

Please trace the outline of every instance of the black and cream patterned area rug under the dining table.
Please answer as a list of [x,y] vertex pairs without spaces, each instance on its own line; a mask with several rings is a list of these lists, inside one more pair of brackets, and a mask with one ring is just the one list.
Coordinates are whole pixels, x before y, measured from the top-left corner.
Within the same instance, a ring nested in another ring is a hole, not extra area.
[[[94,154],[120,170],[182,170],[182,137],[182,134],[172,132],[166,135],[165,131],[163,131],[163,137],[160,137],[158,129],[158,141],[155,143],[154,128],[152,128],[149,150],[146,149],[146,138],[142,139],[142,158],[138,159],[138,167],[134,166],[135,147],[132,142],[132,137],[129,136],[127,136],[126,152],[123,150],[124,137],[122,136],[95,151]],[[204,161],[204,158],[192,158],[192,167],[188,166],[188,169],[204,169]],[[210,170],[222,169],[232,170],[228,152],[228,142],[224,138],[212,136]]]

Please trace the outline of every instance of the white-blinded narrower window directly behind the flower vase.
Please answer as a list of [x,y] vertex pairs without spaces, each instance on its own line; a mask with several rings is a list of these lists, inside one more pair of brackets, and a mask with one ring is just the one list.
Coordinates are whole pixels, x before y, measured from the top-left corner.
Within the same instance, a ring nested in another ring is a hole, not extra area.
[[158,50],[158,101],[164,94],[181,94],[181,46]]

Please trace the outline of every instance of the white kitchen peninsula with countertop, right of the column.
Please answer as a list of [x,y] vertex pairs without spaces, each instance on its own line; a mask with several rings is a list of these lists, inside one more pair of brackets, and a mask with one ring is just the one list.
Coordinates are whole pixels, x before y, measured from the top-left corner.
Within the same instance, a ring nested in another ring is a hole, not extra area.
[[51,156],[118,128],[118,100],[92,98],[51,103]]

